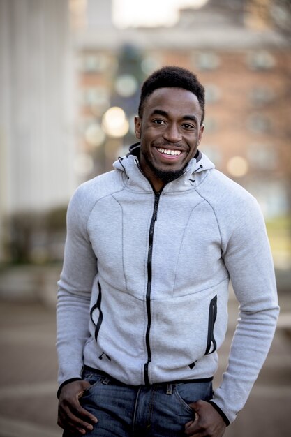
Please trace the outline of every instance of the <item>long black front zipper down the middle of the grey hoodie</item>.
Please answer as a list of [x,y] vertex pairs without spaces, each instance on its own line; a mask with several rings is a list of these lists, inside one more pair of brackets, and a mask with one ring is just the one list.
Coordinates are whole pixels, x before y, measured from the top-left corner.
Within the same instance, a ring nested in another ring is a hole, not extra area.
[[153,240],[154,240],[154,227],[158,216],[158,202],[160,200],[161,191],[155,192],[154,212],[151,217],[151,225],[149,227],[149,252],[147,255],[147,332],[146,332],[146,346],[147,346],[147,362],[144,364],[144,383],[149,385],[149,363],[151,362],[151,345],[149,343],[149,332],[151,330],[151,260],[153,255]]

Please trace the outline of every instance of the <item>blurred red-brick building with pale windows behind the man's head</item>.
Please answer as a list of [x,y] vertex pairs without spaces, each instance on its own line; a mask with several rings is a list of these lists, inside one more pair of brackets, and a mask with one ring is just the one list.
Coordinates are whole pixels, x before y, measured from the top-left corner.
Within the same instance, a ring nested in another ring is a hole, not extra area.
[[[184,66],[206,87],[202,151],[258,198],[267,218],[285,214],[291,51],[271,15],[274,1],[208,1],[180,10],[174,27],[122,30],[112,25],[110,3],[83,3],[79,13],[87,27],[75,31],[84,178],[110,170],[114,157],[135,142],[135,91],[142,79],[165,64]],[[103,128],[104,114],[115,105],[128,119],[128,134],[119,138]]]

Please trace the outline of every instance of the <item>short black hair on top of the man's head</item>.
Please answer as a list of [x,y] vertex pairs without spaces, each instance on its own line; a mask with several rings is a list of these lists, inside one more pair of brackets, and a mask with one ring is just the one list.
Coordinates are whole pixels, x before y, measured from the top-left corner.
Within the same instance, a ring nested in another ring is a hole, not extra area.
[[142,117],[144,102],[158,88],[181,88],[195,94],[202,109],[201,123],[205,114],[205,90],[197,76],[186,68],[164,66],[154,71],[142,84],[138,115]]

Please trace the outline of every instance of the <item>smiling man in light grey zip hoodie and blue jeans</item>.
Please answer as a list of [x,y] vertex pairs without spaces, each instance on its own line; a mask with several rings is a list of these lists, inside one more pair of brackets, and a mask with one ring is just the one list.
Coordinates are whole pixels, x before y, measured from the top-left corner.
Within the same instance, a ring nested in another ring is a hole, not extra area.
[[[68,207],[59,281],[64,436],[221,437],[274,335],[278,302],[262,214],[197,150],[204,88],[184,68],[143,84],[133,145]],[[240,304],[229,364],[212,390]]]

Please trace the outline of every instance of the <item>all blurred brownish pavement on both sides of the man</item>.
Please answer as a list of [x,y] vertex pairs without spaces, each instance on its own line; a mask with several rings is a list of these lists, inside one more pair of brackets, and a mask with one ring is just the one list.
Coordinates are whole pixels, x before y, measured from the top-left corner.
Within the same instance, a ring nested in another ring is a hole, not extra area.
[[[55,292],[8,299],[0,293],[0,437],[61,437],[57,427]],[[225,437],[290,437],[291,290],[279,295],[281,316],[270,353],[246,406]],[[230,297],[229,329],[214,387],[221,380],[237,320]]]

